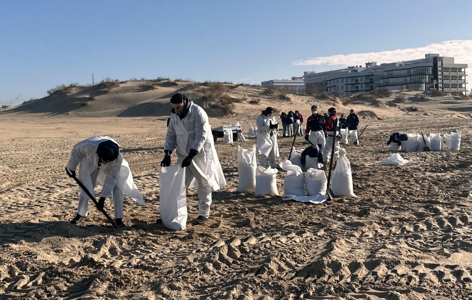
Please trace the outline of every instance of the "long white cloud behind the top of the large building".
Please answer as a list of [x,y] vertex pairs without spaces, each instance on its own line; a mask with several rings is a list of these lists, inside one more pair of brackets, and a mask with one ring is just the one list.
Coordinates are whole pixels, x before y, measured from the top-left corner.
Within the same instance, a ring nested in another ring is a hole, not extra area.
[[368,61],[389,63],[403,60],[424,58],[427,53],[439,53],[441,56],[455,57],[455,63],[469,64],[472,67],[472,40],[454,40],[430,44],[425,47],[397,49],[370,53],[338,54],[325,57],[306,58],[295,61],[297,66],[356,66]]

